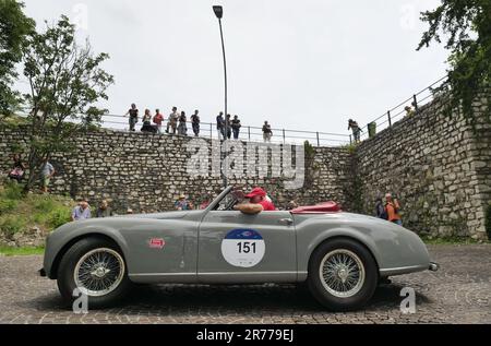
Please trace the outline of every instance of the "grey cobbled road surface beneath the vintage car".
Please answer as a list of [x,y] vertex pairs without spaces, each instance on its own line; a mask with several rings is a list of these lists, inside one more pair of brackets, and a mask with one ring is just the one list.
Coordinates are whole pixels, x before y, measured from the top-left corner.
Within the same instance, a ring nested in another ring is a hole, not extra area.
[[[88,314],[62,308],[40,256],[0,256],[0,323],[491,323],[491,246],[431,246],[442,269],[395,277],[363,311],[332,313],[294,285],[142,286],[124,305]],[[403,314],[403,287],[417,294]]]

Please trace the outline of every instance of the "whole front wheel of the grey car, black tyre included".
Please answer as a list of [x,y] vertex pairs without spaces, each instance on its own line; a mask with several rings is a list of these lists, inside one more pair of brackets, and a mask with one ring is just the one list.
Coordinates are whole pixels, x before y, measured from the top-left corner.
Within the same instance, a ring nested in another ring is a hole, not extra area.
[[67,302],[83,295],[88,309],[105,308],[123,298],[130,287],[123,255],[109,240],[82,239],[61,259],[58,288]]

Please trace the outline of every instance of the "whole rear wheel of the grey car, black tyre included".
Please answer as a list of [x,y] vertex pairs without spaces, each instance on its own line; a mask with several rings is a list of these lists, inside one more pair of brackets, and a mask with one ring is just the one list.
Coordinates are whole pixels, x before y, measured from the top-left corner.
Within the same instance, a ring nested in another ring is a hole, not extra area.
[[362,244],[338,238],[322,243],[309,263],[309,289],[327,309],[363,307],[379,282],[376,263]]

